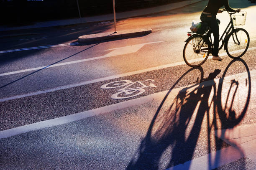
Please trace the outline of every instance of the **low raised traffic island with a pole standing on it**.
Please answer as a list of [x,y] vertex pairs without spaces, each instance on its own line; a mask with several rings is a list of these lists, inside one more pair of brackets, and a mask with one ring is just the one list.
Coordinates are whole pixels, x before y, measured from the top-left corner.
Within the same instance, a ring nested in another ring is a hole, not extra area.
[[79,36],[79,42],[91,42],[91,41],[105,41],[115,38],[127,38],[134,36],[143,36],[152,33],[152,29],[132,29],[132,30],[121,30],[117,31],[117,33],[109,32],[109,33],[98,33],[98,34],[90,34]]

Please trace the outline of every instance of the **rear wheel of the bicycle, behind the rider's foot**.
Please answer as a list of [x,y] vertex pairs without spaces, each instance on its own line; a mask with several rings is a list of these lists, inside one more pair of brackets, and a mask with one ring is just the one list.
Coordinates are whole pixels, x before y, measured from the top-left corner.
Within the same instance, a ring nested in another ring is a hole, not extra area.
[[204,36],[195,35],[191,37],[184,46],[183,58],[185,63],[191,67],[201,66],[210,54],[210,44],[205,41]]

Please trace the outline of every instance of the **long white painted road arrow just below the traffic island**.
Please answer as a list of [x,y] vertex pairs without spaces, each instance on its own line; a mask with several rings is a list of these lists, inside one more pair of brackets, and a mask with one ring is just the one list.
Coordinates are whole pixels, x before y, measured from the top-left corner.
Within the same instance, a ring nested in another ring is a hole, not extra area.
[[143,46],[145,46],[146,44],[161,43],[161,42],[164,42],[164,41],[156,41],[156,42],[151,42],[151,43],[143,43],[143,44],[137,44],[137,45],[132,45],[132,46],[113,48],[113,49],[106,50],[106,51],[111,51],[111,50],[113,50],[113,51],[111,51],[110,53],[108,53],[104,56],[87,58],[87,59],[76,60],[76,61],[69,61],[69,62],[64,62],[64,63],[57,63],[57,64],[53,64],[53,65],[41,66],[41,67],[25,69],[25,70],[12,71],[12,72],[8,72],[8,73],[0,74],[0,76],[7,76],[7,75],[18,74],[18,73],[23,73],[23,72],[27,72],[27,71],[34,71],[34,70],[46,69],[46,68],[51,68],[51,67],[56,67],[56,66],[64,66],[64,65],[68,65],[68,64],[81,63],[81,62],[85,62],[85,61],[92,61],[92,60],[97,60],[97,59],[102,59],[102,58],[107,58],[107,57],[112,57],[112,56],[118,56],[118,55],[123,55],[123,54],[128,54],[128,53],[135,53],[139,49],[141,49]]

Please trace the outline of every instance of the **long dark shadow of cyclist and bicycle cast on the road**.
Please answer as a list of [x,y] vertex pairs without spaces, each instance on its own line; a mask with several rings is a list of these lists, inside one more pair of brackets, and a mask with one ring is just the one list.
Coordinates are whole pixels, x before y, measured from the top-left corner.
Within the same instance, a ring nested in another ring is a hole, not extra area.
[[[246,67],[248,74],[246,83],[244,79],[236,80],[233,77],[231,81],[225,80],[230,66],[235,62],[240,62]],[[164,104],[167,103],[168,96],[175,85],[186,74],[195,69],[201,73],[199,83],[180,90],[171,105],[168,105],[168,109],[164,110]],[[161,101],[154,118],[151,120],[146,137],[141,140],[139,149],[128,164],[127,170],[156,170],[168,167],[175,170],[176,165],[184,162],[187,162],[187,166],[184,166],[183,169],[189,169],[191,165],[189,161],[195,157],[207,155],[211,151],[229,146],[223,140],[215,137],[214,132],[217,129],[235,127],[242,121],[250,101],[251,76],[248,66],[242,59],[233,60],[228,64],[217,86],[215,82],[217,80],[214,79],[220,72],[221,70],[215,69],[204,79],[202,67],[192,68],[175,82]],[[241,84],[246,84],[248,95],[244,102],[239,101],[245,105],[242,111],[238,113],[234,104]],[[243,150],[239,148],[237,150],[242,155],[241,157],[244,157]],[[211,160],[212,158],[209,156],[209,167],[205,167],[205,169],[215,168],[214,166],[220,162],[220,155],[216,155],[213,159],[214,162]],[[243,160],[239,164],[241,167],[246,166]]]

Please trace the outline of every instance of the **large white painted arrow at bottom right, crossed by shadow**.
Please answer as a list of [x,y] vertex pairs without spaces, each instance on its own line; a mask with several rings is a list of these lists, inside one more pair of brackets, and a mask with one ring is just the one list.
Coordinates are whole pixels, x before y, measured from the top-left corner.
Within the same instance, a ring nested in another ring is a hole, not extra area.
[[249,157],[253,162],[256,162],[255,129],[256,125],[251,124],[234,127],[232,129],[216,130],[215,135],[230,144],[230,147],[211,152],[207,155],[187,161],[184,164],[170,167],[166,170],[212,170],[243,157]]

